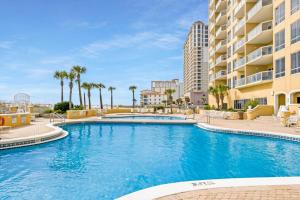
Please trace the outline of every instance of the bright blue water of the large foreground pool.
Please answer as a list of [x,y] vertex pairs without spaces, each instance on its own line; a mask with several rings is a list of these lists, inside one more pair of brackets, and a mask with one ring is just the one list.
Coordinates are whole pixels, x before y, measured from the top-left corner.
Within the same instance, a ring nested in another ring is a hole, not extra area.
[[300,144],[193,125],[73,124],[0,151],[0,199],[113,199],[178,181],[300,175]]

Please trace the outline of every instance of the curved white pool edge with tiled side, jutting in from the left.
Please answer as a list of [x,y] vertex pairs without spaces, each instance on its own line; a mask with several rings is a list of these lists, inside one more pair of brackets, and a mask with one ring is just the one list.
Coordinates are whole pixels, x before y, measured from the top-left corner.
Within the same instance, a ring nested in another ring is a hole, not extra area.
[[53,131],[39,134],[39,135],[31,135],[31,136],[27,136],[27,137],[2,139],[2,140],[0,140],[0,150],[32,146],[32,145],[52,142],[55,140],[62,139],[69,134],[67,131],[56,126],[56,124],[46,124],[45,126],[53,129]]

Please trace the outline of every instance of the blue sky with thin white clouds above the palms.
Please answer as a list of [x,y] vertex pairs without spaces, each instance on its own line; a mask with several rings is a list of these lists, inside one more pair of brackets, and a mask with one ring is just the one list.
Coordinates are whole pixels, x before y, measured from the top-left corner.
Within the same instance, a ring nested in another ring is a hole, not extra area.
[[207,7],[206,0],[1,0],[0,100],[26,92],[34,103],[55,103],[53,72],[82,65],[84,81],[114,86],[115,103],[130,104],[130,85],[182,79],[185,37],[194,21],[207,22]]

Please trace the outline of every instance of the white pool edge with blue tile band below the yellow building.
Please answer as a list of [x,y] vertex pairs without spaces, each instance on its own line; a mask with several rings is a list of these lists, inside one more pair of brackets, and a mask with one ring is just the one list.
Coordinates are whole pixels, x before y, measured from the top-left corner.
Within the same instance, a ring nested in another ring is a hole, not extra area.
[[266,138],[275,138],[275,139],[300,143],[300,135],[295,135],[290,133],[224,128],[224,127],[214,126],[206,123],[197,123],[196,126],[212,132],[222,131],[222,133],[226,133],[226,134],[238,134],[238,135],[250,135],[250,136],[258,136],[258,137],[266,137]]

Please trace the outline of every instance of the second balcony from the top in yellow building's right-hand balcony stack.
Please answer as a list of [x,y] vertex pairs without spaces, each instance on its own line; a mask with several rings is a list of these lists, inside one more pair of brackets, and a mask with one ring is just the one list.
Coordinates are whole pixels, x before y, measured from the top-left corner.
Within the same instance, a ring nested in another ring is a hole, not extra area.
[[247,36],[247,44],[268,44],[273,41],[272,20],[262,22],[253,28]]

